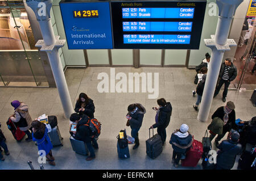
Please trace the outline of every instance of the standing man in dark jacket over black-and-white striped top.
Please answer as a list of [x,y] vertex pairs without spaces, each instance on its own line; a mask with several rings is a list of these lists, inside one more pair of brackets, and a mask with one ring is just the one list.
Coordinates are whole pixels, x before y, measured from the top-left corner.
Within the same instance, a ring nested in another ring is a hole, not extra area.
[[218,77],[219,77],[218,86],[214,91],[213,98],[216,95],[218,95],[218,92],[220,91],[221,86],[225,84],[224,91],[222,93],[222,101],[225,103],[230,82],[232,82],[237,77],[237,68],[231,62],[230,58],[226,58],[226,60],[221,64],[220,74],[218,75]]

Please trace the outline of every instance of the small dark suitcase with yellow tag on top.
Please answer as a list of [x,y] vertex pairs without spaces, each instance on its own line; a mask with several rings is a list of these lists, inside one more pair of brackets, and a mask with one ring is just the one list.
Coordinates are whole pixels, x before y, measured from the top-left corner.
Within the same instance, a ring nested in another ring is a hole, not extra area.
[[117,153],[118,157],[125,159],[130,158],[128,140],[126,136],[126,130],[121,130],[120,133],[123,133],[123,138],[120,138],[120,134],[117,136]]

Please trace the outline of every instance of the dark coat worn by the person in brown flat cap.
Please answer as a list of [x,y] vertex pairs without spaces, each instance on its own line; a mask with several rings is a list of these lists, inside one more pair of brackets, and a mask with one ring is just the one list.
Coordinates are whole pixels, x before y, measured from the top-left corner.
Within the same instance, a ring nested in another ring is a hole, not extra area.
[[[224,115],[225,115],[224,106],[222,106],[217,108],[217,110],[213,113],[212,119],[214,119],[214,117],[220,117],[220,119],[224,121],[223,120]],[[232,110],[232,112],[229,113],[229,120],[223,126],[223,132],[229,132],[231,129],[237,130],[236,112],[234,110]]]

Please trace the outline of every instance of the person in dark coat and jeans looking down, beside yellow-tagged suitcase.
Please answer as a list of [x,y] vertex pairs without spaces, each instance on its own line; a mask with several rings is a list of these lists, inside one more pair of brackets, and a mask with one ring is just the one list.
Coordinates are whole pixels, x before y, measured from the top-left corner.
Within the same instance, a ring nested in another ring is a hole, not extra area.
[[142,106],[142,104],[134,103],[128,106],[127,111],[126,125],[131,127],[131,137],[135,139],[135,145],[133,146],[133,149],[135,150],[139,147],[139,129],[141,129],[146,109]]

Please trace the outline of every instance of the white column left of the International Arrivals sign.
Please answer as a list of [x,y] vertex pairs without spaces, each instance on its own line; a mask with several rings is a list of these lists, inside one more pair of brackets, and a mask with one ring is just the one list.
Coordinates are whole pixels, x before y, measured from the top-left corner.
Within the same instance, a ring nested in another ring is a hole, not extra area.
[[35,12],[36,19],[40,24],[43,40],[39,40],[36,47],[41,47],[41,51],[47,52],[63,106],[64,117],[68,119],[74,110],[58,51],[64,46],[65,40],[59,40],[59,36],[55,36],[53,32],[50,15],[52,0],[26,0],[26,3]]

